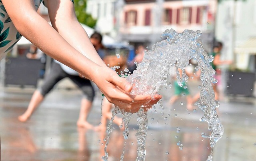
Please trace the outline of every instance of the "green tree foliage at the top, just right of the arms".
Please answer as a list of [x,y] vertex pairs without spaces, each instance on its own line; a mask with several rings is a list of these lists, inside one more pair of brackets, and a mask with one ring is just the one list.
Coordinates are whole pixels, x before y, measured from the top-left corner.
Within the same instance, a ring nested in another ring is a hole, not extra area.
[[97,20],[92,18],[91,14],[86,13],[86,0],[74,0],[74,6],[78,21],[91,28],[94,28]]

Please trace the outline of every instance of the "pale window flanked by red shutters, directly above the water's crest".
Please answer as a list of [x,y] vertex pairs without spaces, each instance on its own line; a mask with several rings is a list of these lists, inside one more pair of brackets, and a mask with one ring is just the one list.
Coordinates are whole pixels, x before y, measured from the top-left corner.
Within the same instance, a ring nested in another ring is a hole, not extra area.
[[177,24],[191,24],[192,8],[186,7],[177,10]]

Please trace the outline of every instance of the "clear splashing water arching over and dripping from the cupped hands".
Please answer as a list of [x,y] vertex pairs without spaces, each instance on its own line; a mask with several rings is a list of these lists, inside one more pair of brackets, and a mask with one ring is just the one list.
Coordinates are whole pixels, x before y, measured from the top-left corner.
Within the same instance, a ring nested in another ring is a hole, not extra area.
[[[213,148],[216,142],[222,137],[224,129],[218,118],[216,108],[220,103],[214,99],[214,91],[212,89],[212,83],[216,83],[216,79],[213,78],[215,71],[210,66],[210,62],[213,61],[213,56],[208,56],[203,48],[202,40],[198,37],[201,35],[200,31],[184,30],[182,33],[177,33],[175,30],[166,30],[159,42],[152,46],[152,50],[146,51],[144,58],[140,64],[137,65],[137,70],[132,75],[128,75],[126,79],[129,83],[133,84],[131,94],[156,94],[161,87],[166,84],[168,70],[171,66],[176,66],[176,75],[178,84],[182,86],[182,82],[188,80],[188,76],[185,73],[185,67],[189,64],[190,59],[194,59],[198,62],[198,67],[195,70],[201,70],[202,85],[200,87],[200,99],[196,103],[198,107],[204,111],[204,115],[200,118],[200,121],[208,122],[208,129],[211,131],[211,135],[204,135],[203,137],[210,138],[211,153],[207,160],[212,161]],[[179,74],[179,70],[182,70],[182,76]],[[130,120],[131,113],[123,112],[118,107],[115,107],[113,114],[117,112],[122,113],[124,119]],[[147,112],[141,108],[137,113],[137,121],[139,125],[137,136],[138,150],[136,161],[144,161],[146,155],[145,140],[148,131],[148,119]],[[107,140],[109,138],[112,120],[110,126],[107,127]],[[124,138],[128,137],[128,125],[125,126],[126,133]],[[108,143],[108,141],[107,141]],[[107,146],[106,143],[106,146]],[[183,148],[180,147],[180,149]],[[123,151],[124,153],[124,151]],[[108,159],[106,153],[104,159]],[[123,159],[123,155],[121,160]]]

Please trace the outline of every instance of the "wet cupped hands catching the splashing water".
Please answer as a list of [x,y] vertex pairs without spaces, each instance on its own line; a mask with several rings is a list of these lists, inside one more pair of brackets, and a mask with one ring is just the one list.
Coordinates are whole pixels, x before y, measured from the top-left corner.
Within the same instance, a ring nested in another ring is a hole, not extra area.
[[108,67],[100,67],[94,71],[91,80],[96,83],[110,103],[113,103],[120,109],[124,109],[126,112],[138,112],[142,105],[145,109],[150,109],[152,105],[162,98],[158,94],[153,97],[150,95],[129,94],[132,90],[132,85]]

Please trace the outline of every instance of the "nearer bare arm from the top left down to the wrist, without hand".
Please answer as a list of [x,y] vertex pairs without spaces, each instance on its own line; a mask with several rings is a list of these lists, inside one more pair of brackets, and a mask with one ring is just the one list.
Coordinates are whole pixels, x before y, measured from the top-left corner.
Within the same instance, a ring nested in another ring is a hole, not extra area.
[[[14,2],[15,1],[15,2]],[[30,1],[3,1],[18,32],[50,57],[90,78],[97,64],[73,48],[48,24]]]

